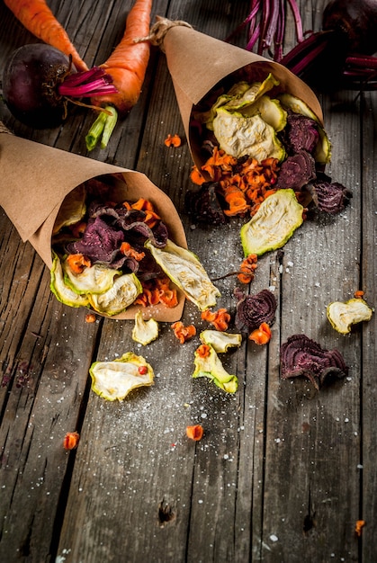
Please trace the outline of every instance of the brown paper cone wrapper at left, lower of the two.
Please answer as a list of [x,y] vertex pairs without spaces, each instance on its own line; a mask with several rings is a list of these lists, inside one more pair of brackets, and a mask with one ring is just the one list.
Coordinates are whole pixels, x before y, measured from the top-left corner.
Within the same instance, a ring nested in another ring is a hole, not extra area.
[[[34,246],[49,269],[51,236],[62,202],[81,183],[104,174],[112,177],[113,201],[151,201],[165,222],[169,237],[176,245],[187,248],[184,227],[173,202],[145,174],[21,139],[9,132],[0,132],[0,170],[0,205],[22,241]],[[134,318],[140,309],[144,318],[173,322],[179,320],[184,308],[180,291],[178,301],[175,308],[131,306],[112,318]]]

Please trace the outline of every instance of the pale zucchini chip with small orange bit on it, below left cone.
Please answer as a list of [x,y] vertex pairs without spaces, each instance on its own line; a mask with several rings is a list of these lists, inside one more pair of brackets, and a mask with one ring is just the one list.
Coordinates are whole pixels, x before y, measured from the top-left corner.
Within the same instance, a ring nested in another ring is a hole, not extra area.
[[108,401],[121,401],[132,389],[153,385],[155,378],[145,359],[132,352],[112,362],[94,362],[89,373],[94,393]]

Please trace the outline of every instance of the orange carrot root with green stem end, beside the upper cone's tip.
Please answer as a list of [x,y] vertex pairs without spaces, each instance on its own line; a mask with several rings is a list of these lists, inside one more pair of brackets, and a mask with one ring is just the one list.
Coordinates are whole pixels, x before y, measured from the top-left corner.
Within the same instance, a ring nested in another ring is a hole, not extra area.
[[112,105],[120,115],[125,115],[138,102],[150,54],[148,40],[138,40],[148,36],[151,9],[152,0],[136,0],[131,7],[121,42],[100,66],[112,76],[118,94],[94,96],[94,105]]

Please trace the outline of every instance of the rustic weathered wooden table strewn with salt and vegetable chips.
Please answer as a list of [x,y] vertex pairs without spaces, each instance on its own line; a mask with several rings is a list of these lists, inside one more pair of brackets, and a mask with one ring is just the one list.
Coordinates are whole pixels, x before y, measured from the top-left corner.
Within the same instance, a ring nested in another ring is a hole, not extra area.
[[[120,40],[131,1],[48,4],[90,67]],[[224,39],[249,4],[155,0],[152,18],[184,20]],[[326,3],[299,4],[304,29],[318,30]],[[295,40],[289,18],[286,48]],[[0,22],[3,68],[13,49],[35,40],[3,3]],[[377,97],[356,94],[319,94],[333,144],[328,172],[353,192],[351,204],[332,220],[306,221],[283,256],[259,260],[250,290],[273,288],[277,316],[270,344],[244,342],[225,361],[238,375],[235,395],[192,379],[197,338],[181,345],[166,324],[157,341],[141,347],[131,339],[131,321],[99,317],[87,324],[84,309],[58,303],[48,268],[0,210],[1,561],[377,559],[377,321],[373,316],[339,335],[326,318],[330,301],[350,299],[358,289],[376,302]],[[211,276],[237,268],[238,228],[194,226],[186,213],[192,160],[186,142],[164,145],[169,133],[184,139],[184,130],[158,49],[139,103],[106,149],[86,153],[93,117],[84,111],[52,130],[14,121],[4,103],[0,119],[19,137],[147,174],[174,201],[188,245]],[[220,306],[234,313],[234,279],[218,287]],[[198,331],[203,326],[191,303],[183,320]],[[307,380],[281,380],[280,345],[297,333],[337,348],[349,367],[346,380],[319,392]],[[121,403],[99,398],[89,366],[128,351],[153,365],[154,387]],[[203,425],[201,442],[186,438],[187,424]],[[81,439],[69,452],[62,441],[74,430]],[[360,537],[358,520],[365,521]]]

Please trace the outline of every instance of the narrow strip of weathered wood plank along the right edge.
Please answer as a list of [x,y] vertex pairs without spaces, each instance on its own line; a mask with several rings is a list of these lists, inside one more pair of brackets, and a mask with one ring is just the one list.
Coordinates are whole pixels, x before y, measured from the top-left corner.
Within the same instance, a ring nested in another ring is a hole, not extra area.
[[[362,269],[361,289],[365,291],[365,299],[370,306],[375,307],[376,272],[376,229],[377,205],[375,189],[375,162],[376,162],[376,94],[365,93],[362,96],[362,178],[360,183],[360,197],[362,200]],[[374,297],[373,297],[374,296]],[[373,300],[374,299],[374,300]],[[359,518],[366,523],[361,539],[362,557],[364,561],[376,558],[375,534],[377,498],[376,498],[376,425],[375,405],[375,364],[376,364],[376,315],[361,331],[361,354],[363,358],[363,371],[360,373],[361,384],[361,487],[362,502]]]

